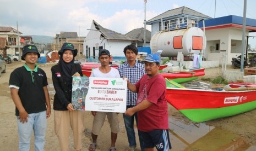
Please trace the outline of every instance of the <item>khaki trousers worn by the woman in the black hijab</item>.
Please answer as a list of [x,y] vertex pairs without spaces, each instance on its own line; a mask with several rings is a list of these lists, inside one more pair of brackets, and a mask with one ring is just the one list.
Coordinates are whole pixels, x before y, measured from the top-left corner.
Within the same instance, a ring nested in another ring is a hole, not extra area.
[[73,130],[74,148],[81,149],[81,135],[84,130],[81,111],[54,111],[55,133],[62,151],[69,151],[69,126]]

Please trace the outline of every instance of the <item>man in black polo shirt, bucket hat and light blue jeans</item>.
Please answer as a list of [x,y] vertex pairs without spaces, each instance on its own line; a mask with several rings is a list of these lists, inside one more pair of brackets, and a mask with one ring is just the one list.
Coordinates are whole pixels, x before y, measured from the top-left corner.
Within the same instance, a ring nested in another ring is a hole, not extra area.
[[25,60],[25,65],[14,69],[9,80],[10,94],[16,106],[19,150],[30,150],[32,131],[35,150],[44,150],[46,119],[51,114],[47,77],[36,65],[40,54],[35,45],[26,45],[22,50],[21,60]]

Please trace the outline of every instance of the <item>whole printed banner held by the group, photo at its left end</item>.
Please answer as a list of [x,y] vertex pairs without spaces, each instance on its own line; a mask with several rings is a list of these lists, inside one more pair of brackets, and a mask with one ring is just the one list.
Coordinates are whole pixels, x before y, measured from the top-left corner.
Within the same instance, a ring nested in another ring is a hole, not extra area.
[[75,110],[126,112],[127,80],[122,78],[73,77]]

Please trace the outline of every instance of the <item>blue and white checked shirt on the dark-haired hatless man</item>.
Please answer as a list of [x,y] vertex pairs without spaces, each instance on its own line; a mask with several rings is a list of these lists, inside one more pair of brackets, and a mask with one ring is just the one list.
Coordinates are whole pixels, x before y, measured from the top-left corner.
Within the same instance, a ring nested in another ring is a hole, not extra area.
[[[138,80],[144,75],[145,68],[144,65],[139,63],[138,61],[135,62],[133,67],[130,67],[129,63],[126,61],[123,65],[119,66],[118,68],[120,77],[122,78],[125,76],[129,79],[130,83],[135,84]],[[137,101],[137,93],[134,93],[127,89],[127,106],[135,106]]]

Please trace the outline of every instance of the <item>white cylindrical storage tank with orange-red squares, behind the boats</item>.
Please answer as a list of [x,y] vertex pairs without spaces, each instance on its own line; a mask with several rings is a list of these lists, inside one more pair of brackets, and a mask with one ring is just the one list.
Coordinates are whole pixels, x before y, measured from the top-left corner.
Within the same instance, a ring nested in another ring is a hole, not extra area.
[[205,47],[204,32],[198,27],[157,32],[150,40],[152,53],[162,50],[161,56],[168,57],[177,56],[178,51],[181,51],[184,56],[188,56],[189,53],[199,54]]

